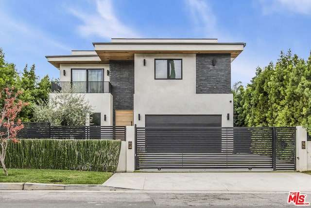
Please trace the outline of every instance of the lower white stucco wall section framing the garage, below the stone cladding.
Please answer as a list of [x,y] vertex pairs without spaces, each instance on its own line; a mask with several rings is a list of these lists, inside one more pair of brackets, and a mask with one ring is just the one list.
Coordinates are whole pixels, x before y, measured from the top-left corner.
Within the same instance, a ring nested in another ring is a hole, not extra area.
[[233,100],[232,94],[134,94],[134,123],[145,127],[146,114],[204,114],[222,115],[222,126],[233,127],[233,102],[230,100]]

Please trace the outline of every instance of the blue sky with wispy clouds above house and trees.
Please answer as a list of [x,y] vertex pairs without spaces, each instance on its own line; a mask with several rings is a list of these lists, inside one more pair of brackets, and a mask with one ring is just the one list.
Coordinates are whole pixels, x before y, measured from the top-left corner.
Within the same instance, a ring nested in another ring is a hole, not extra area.
[[245,42],[231,83],[243,85],[280,51],[307,59],[311,0],[0,0],[0,47],[8,62],[58,78],[45,56],[94,50],[111,38],[218,38]]

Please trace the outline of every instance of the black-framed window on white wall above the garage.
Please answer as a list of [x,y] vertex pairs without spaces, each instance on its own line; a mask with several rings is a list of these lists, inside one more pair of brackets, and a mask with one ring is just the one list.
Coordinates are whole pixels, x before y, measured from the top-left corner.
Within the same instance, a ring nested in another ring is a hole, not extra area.
[[155,79],[182,79],[182,59],[155,59]]

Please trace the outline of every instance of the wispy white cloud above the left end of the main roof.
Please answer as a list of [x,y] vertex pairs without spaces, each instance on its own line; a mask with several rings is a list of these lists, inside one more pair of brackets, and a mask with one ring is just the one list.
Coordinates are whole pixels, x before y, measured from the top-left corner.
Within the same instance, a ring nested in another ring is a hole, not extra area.
[[69,11],[83,21],[78,26],[79,34],[101,38],[138,38],[138,34],[124,25],[114,14],[111,0],[96,0],[96,12],[87,14],[76,9]]

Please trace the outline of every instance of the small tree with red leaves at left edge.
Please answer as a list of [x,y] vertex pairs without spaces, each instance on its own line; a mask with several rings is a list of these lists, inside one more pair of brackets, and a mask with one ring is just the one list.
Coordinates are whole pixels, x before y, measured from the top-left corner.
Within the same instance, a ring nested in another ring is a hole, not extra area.
[[6,148],[9,140],[13,143],[20,143],[17,140],[17,132],[24,128],[20,119],[17,119],[17,113],[20,112],[23,106],[28,105],[21,100],[18,100],[18,95],[22,94],[22,91],[14,93],[14,87],[4,88],[0,92],[0,100],[2,105],[0,106],[0,161],[4,170],[4,175],[8,175],[8,172],[4,165],[4,159],[6,154]]

